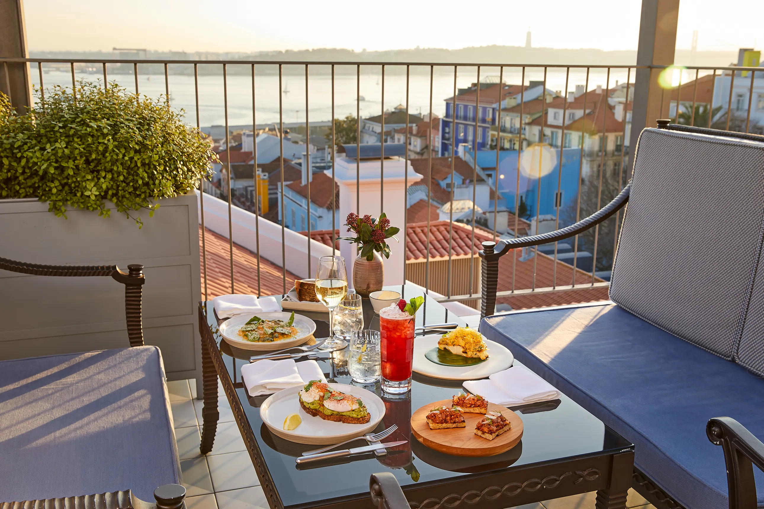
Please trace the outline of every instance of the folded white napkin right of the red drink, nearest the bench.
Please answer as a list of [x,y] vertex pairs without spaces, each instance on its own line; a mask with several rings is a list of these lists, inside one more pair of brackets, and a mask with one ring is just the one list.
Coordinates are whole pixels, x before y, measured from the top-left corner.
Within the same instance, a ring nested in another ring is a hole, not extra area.
[[516,407],[560,397],[559,391],[549,382],[520,366],[494,373],[487,380],[468,380],[462,385],[472,394],[481,395],[503,407]]

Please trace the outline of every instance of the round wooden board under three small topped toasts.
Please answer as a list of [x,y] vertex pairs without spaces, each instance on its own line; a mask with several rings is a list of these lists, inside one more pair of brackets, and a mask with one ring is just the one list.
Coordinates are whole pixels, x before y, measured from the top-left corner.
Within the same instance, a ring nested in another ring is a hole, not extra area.
[[426,416],[433,408],[450,407],[452,401],[445,399],[426,404],[411,416],[411,432],[423,445],[441,453],[454,456],[494,456],[504,453],[520,442],[523,437],[523,420],[509,408],[489,403],[488,410],[501,412],[512,424],[512,429],[500,434],[494,440],[478,437],[475,425],[484,419],[484,414],[462,414],[465,416],[467,427],[452,427],[444,430],[431,430]]

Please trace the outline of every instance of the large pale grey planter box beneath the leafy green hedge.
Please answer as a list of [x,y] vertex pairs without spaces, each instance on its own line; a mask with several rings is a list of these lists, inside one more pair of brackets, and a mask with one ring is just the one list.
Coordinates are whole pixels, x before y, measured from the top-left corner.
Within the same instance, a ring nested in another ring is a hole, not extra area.
[[[162,350],[167,379],[197,381],[202,354],[197,306],[196,195],[160,201],[144,227],[119,214],[71,210],[34,199],[0,200],[0,256],[49,265],[144,266],[144,341]],[[0,359],[129,346],[125,286],[106,277],[45,277],[0,270]]]

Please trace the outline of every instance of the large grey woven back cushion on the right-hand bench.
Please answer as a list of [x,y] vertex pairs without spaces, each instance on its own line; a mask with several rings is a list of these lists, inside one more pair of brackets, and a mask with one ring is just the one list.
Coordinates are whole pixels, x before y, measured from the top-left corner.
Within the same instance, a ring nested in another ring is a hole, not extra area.
[[610,298],[733,359],[759,259],[762,161],[762,142],[643,130]]

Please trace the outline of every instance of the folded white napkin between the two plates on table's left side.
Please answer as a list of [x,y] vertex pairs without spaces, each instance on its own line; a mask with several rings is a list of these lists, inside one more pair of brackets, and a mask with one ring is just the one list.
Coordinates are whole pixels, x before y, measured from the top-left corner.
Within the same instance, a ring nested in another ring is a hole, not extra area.
[[263,359],[241,366],[241,379],[250,396],[273,394],[281,389],[305,385],[311,380],[326,382],[315,360]]

